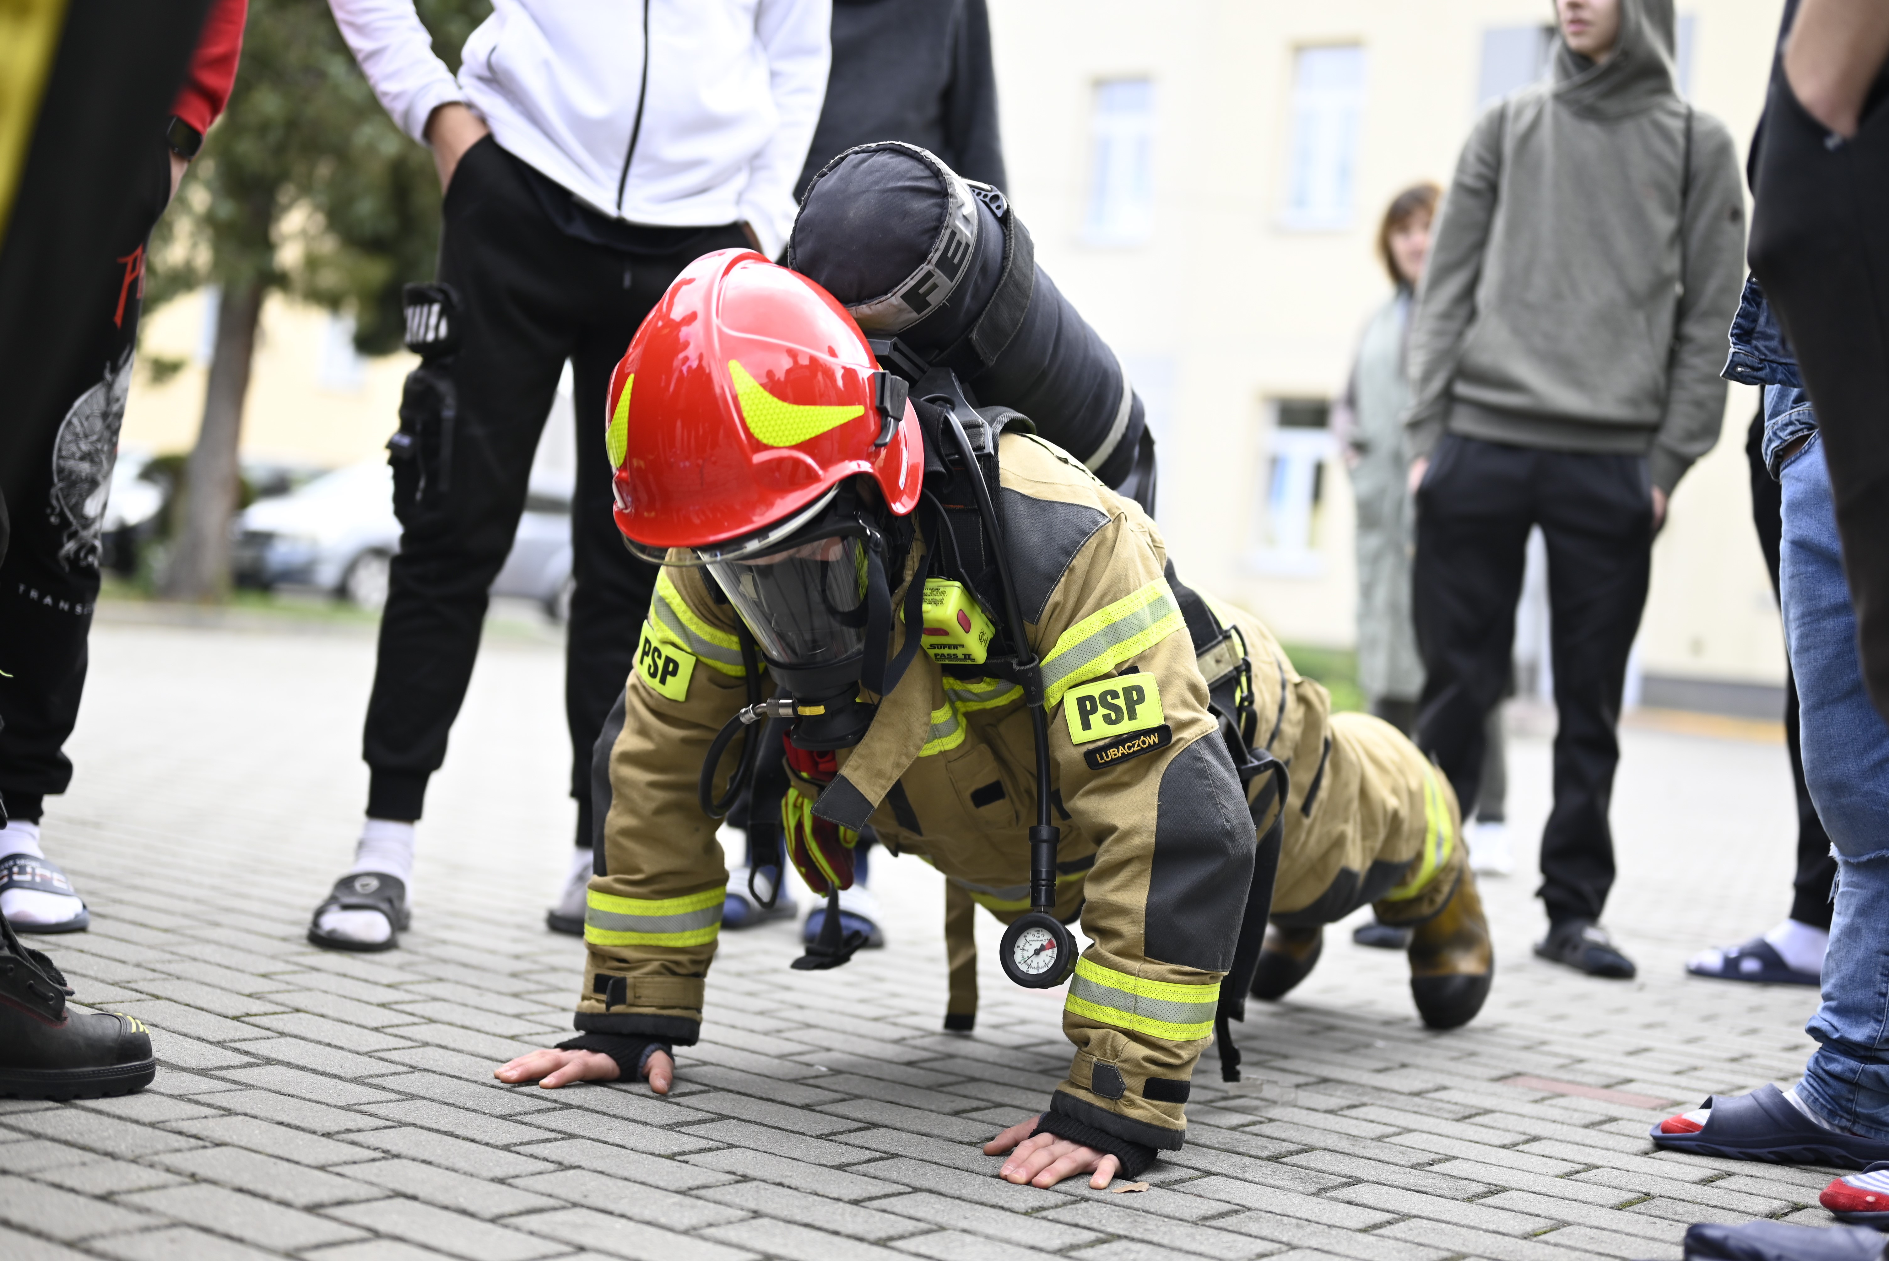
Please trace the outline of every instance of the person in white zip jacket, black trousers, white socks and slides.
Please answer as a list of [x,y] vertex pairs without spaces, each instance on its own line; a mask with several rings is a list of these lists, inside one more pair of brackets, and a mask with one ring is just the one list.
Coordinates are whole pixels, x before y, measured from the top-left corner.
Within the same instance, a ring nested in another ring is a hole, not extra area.
[[[497,0],[453,76],[414,0],[329,0],[446,194],[438,276],[410,285],[393,559],[368,700],[366,825],[308,938],[389,950],[408,923],[414,823],[465,698],[485,591],[512,546],[538,434],[572,366],[578,476],[565,708],[582,933],[591,746],[629,676],[655,568],[610,515],[610,372],[693,259],[776,257],[825,96],[831,0]],[[565,899],[570,900],[570,899]]]

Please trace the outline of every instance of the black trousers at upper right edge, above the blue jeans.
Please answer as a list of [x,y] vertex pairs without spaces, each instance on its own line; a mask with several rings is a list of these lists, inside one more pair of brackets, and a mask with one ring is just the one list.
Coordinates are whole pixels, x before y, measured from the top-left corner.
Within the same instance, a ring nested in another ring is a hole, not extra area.
[[1863,681],[1889,717],[1889,68],[1847,142],[1774,68],[1753,170],[1751,270],[1817,408]]

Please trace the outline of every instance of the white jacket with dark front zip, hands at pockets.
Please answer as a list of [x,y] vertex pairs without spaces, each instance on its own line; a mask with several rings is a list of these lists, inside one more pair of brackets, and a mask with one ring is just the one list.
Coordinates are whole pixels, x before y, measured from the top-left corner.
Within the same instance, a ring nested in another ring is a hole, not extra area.
[[465,102],[502,149],[629,223],[793,227],[831,60],[831,0],[495,0],[459,77],[414,0],[329,0],[393,121]]

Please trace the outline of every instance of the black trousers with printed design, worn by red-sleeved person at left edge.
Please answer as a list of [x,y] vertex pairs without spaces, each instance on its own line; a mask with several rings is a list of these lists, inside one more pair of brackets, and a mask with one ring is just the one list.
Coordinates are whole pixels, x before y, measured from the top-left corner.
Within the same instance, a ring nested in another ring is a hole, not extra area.
[[8,498],[13,536],[0,561],[0,799],[36,823],[42,799],[72,783],[66,736],[85,689],[85,642],[98,598],[100,525],[130,391],[144,308],[144,251],[170,200],[170,153],[151,128],[130,191],[134,215],[93,242],[72,276],[83,319],[57,389],[42,389]]

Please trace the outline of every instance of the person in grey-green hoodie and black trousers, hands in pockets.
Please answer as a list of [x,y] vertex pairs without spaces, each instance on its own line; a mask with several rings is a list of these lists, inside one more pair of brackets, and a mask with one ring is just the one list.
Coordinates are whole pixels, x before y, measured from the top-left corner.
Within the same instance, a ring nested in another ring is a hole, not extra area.
[[1553,74],[1477,119],[1417,293],[1417,742],[1470,814],[1541,527],[1560,727],[1536,953],[1628,978],[1596,923],[1613,883],[1615,721],[1653,534],[1723,423],[1744,193],[1730,134],[1674,87],[1672,0],[1555,9]]

